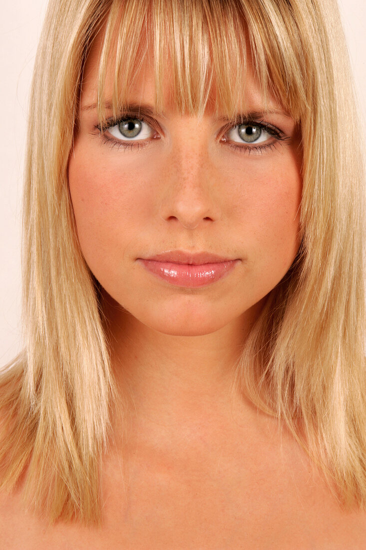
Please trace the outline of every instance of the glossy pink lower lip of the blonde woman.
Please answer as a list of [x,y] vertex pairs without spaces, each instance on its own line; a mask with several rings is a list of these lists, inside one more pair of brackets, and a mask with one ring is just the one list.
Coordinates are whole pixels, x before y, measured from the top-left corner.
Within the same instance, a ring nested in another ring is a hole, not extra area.
[[240,261],[229,260],[227,262],[203,263],[196,266],[188,263],[139,260],[153,275],[176,287],[186,288],[206,287],[228,274]]

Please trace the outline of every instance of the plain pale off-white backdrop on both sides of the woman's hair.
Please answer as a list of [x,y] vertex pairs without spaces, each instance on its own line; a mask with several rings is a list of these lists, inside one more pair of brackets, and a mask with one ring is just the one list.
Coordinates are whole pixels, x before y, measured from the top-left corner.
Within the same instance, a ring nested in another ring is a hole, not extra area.
[[[1,9],[0,366],[21,349],[20,237],[26,119],[32,68],[46,4],[46,0],[13,0],[3,2]],[[340,0],[340,8],[359,96],[359,123],[364,127],[366,2]]]

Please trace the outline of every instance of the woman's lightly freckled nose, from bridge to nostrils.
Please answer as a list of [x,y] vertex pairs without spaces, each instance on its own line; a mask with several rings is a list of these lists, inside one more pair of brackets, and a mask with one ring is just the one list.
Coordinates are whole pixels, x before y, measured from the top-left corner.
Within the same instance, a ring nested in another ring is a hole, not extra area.
[[208,154],[180,150],[171,154],[167,164],[160,217],[169,223],[179,222],[186,229],[218,221],[218,174]]

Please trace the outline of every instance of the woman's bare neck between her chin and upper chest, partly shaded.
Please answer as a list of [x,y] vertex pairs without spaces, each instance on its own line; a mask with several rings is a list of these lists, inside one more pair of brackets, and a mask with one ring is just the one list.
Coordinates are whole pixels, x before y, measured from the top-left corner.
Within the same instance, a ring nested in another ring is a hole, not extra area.
[[177,336],[138,321],[104,296],[111,361],[117,386],[137,416],[174,421],[239,397],[237,360],[262,304],[219,330]]

